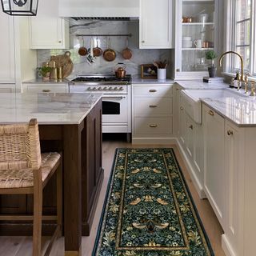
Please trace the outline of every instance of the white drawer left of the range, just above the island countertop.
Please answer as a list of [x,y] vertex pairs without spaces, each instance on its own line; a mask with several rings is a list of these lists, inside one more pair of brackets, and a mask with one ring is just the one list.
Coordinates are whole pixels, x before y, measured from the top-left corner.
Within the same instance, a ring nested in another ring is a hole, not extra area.
[[25,93],[68,93],[67,85],[56,85],[56,86],[47,86],[42,84],[36,85],[23,85],[23,92]]

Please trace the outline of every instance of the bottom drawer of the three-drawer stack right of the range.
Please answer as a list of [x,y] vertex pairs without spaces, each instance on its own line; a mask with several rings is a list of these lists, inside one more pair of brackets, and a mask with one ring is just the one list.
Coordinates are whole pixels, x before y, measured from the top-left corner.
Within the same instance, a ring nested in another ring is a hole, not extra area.
[[172,118],[134,118],[134,134],[172,134]]

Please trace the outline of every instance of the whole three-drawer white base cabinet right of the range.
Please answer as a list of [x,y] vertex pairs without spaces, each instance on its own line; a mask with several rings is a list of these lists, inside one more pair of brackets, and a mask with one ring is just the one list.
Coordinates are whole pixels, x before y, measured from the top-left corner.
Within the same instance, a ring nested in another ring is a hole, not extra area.
[[170,143],[173,137],[172,84],[135,84],[132,142]]

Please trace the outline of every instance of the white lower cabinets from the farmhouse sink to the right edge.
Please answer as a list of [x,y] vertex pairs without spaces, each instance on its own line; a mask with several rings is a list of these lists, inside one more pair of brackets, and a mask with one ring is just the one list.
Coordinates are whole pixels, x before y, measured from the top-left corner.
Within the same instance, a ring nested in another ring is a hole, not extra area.
[[222,225],[226,255],[255,254],[256,129],[239,127],[203,105],[204,189]]

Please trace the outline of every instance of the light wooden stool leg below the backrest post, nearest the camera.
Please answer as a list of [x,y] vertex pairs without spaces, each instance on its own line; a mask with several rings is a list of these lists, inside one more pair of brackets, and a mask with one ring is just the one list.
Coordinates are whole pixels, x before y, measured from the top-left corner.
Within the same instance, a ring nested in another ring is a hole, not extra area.
[[40,175],[40,172],[36,172],[37,174],[34,172],[33,256],[40,256],[42,240],[42,175]]

